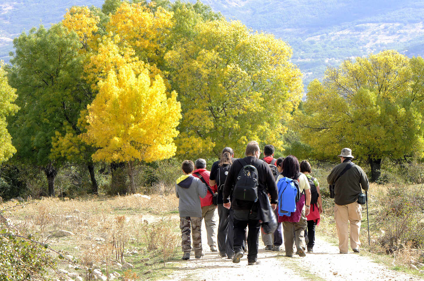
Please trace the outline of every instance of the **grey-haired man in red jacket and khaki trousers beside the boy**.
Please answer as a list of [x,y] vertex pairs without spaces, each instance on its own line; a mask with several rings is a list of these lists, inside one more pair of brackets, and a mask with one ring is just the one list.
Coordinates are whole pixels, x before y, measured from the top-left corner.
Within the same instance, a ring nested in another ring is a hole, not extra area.
[[[210,172],[206,170],[206,160],[199,158],[194,163],[195,171],[193,176],[199,178],[204,182],[206,187],[209,187],[209,175]],[[216,206],[212,202],[213,193],[217,192],[218,188],[216,185],[208,188],[208,192],[204,198],[200,198],[200,204],[202,207],[202,220],[205,220],[206,234],[208,238],[208,245],[211,248],[212,252],[217,250],[216,242],[216,229],[217,229],[217,219],[216,219]]]

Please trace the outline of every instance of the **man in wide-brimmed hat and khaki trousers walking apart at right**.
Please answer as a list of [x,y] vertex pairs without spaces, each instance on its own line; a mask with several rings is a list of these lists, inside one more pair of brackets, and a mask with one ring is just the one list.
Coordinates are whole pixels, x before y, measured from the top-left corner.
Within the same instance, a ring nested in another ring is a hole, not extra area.
[[350,222],[350,246],[359,253],[361,245],[359,231],[361,229],[362,207],[357,203],[358,195],[368,190],[369,182],[363,169],[352,163],[352,150],[342,149],[341,164],[337,165],[327,176],[327,182],[335,184],[334,219],[339,237],[340,253],[348,252],[348,221]]

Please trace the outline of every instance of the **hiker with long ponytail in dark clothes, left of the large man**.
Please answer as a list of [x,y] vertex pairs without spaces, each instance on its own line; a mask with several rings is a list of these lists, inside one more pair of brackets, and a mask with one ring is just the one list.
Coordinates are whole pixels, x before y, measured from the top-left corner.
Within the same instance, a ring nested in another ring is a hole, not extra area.
[[218,188],[218,251],[221,257],[232,259],[234,256],[233,245],[233,209],[223,207],[223,186],[227,178],[228,171],[233,163],[234,151],[231,147],[226,147],[222,150],[220,160],[212,164],[209,177],[210,187],[217,186]]

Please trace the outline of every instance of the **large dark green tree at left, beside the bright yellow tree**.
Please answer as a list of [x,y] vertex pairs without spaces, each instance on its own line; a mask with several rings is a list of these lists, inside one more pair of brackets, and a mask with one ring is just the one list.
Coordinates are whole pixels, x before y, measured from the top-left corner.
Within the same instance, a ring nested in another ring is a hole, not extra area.
[[[76,33],[58,24],[22,33],[14,39],[14,48],[9,83],[17,88],[20,110],[9,124],[13,144],[18,159],[43,168],[49,194],[54,196],[55,176],[69,160],[67,156],[86,152],[81,145],[79,150],[67,149],[69,142],[64,142],[66,147],[59,152],[53,151],[58,139],[69,140],[81,133],[78,118],[93,99],[82,78],[81,42]],[[89,161],[91,174],[94,166]]]

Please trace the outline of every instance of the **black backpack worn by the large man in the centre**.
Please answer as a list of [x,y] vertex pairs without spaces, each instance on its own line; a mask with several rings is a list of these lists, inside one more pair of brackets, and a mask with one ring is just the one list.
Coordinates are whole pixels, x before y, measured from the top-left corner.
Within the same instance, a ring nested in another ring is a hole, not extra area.
[[233,198],[243,201],[257,201],[258,199],[258,170],[253,165],[247,165],[244,159],[239,159],[243,168],[237,176]]

